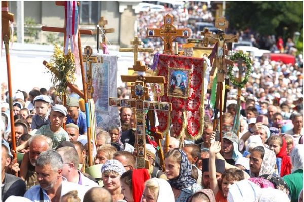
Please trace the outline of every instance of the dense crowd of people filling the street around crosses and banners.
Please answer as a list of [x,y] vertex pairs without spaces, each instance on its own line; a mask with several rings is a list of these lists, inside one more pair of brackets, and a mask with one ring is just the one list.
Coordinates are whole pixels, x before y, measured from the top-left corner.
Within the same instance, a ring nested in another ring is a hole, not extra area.
[[[179,27],[195,30],[189,18],[214,20],[201,2],[186,3],[183,12],[180,9],[169,10]],[[146,38],[148,26],[160,27],[167,12],[141,12],[139,37]],[[197,34],[192,37],[200,37]],[[264,44],[246,33],[240,37],[293,53],[291,39],[281,46],[273,37]],[[159,39],[143,41],[155,52],[162,51]],[[63,106],[54,87],[18,90],[11,122],[8,86],[2,83],[2,201],[303,201],[302,62],[252,59],[253,71],[241,89],[240,109],[237,89],[231,84],[227,89],[222,139],[213,131],[215,116],[207,94],[199,138],[186,137],[181,142],[171,126],[164,159],[158,155],[161,148],[146,142],[146,168],[137,168],[131,108],[118,108],[121,127],[99,129],[89,152],[85,107],[77,94],[69,90]],[[148,56],[145,62],[150,63]],[[118,88],[119,98],[129,94],[126,85]],[[234,119],[237,113],[239,120]],[[240,127],[234,133],[236,122]],[[13,157],[11,125],[17,158]],[[165,151],[165,140],[161,146]],[[89,153],[93,166],[89,166]]]

